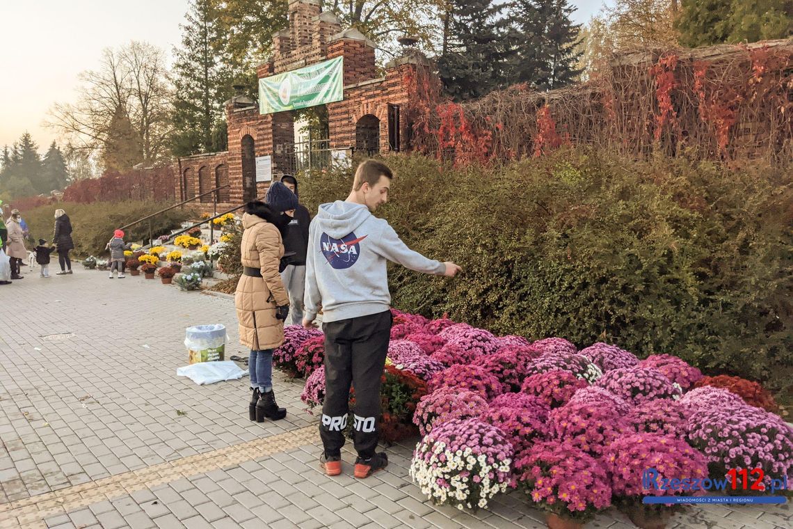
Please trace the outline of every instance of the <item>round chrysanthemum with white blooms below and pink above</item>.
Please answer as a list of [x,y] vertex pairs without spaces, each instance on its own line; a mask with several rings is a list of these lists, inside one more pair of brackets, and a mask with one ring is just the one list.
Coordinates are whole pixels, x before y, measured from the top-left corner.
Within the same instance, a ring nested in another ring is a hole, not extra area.
[[450,420],[416,445],[409,473],[433,503],[476,511],[507,490],[512,455],[498,428],[476,417]]

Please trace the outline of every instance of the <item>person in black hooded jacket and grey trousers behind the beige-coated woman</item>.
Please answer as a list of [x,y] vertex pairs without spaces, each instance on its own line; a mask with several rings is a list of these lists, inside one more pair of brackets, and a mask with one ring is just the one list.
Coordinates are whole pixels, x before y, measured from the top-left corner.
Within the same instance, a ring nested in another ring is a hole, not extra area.
[[[281,177],[281,182],[297,196],[299,201],[297,178],[291,174],[284,174]],[[281,279],[289,293],[289,317],[285,322],[287,325],[300,325],[303,321],[305,255],[308,251],[308,224],[310,223],[311,216],[308,214],[308,209],[305,208],[305,205],[298,203],[284,237],[286,268],[281,273]]]

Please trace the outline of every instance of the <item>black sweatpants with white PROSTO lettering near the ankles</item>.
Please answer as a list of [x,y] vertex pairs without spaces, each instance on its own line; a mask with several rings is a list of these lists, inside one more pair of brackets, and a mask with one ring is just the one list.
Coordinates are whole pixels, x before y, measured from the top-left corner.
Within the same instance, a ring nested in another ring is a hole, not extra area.
[[358,456],[377,449],[380,383],[389,351],[391,311],[322,325],[325,333],[325,401],[320,438],[325,456],[341,455],[350,412],[350,385],[355,389],[353,439]]

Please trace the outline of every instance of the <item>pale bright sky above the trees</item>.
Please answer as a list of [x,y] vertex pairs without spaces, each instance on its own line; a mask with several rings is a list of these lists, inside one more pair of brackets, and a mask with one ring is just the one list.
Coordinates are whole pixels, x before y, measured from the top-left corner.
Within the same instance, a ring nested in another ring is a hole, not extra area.
[[[398,1],[398,0],[397,0]],[[606,0],[613,2],[613,0]],[[603,0],[573,0],[584,23]],[[78,75],[104,48],[144,40],[169,55],[181,40],[187,0],[0,0],[0,148],[27,131],[46,151],[57,132],[43,123],[55,102],[77,98]]]

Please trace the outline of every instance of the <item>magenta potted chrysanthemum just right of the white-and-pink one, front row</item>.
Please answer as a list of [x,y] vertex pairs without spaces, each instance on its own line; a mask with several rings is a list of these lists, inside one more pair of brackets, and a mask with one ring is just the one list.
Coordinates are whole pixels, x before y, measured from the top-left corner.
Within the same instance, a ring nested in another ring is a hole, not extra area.
[[543,441],[515,461],[515,483],[548,512],[551,529],[580,529],[611,505],[606,469],[569,443]]

